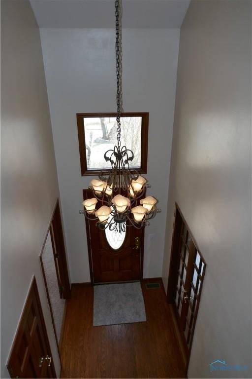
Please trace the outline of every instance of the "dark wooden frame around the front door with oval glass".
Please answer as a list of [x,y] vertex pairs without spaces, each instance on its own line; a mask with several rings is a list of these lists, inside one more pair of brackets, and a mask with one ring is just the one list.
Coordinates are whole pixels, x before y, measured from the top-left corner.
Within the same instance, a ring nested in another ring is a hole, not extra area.
[[[83,200],[86,200],[89,198],[88,194],[92,194],[92,189],[83,189]],[[92,261],[90,221],[86,217],[85,217],[85,224],[86,224],[87,244],[88,244],[88,254],[89,254],[90,281],[91,281],[91,284],[94,285],[95,282],[94,282],[93,261]],[[145,228],[141,230],[141,233],[142,235],[141,235],[141,246],[140,246],[140,281],[143,280]]]

